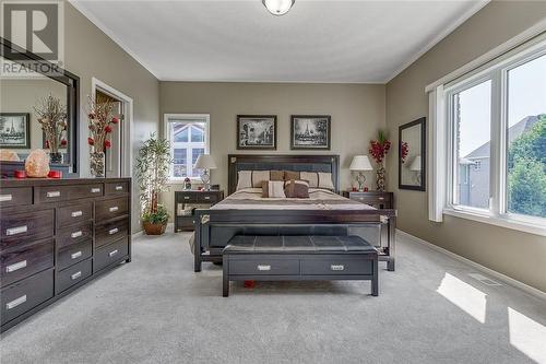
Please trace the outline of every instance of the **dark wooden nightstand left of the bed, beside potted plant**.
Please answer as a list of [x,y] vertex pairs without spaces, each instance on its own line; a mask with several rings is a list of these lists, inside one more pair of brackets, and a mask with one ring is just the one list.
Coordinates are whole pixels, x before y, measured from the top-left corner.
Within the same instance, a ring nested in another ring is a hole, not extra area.
[[185,190],[175,191],[175,233],[193,231],[194,215],[178,215],[178,204],[181,209],[187,203],[207,204],[212,207],[224,199],[223,190]]

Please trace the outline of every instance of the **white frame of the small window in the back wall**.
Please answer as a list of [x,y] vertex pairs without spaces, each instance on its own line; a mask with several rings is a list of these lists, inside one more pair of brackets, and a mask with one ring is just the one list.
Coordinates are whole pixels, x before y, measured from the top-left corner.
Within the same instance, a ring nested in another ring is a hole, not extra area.
[[[195,122],[198,120],[198,122],[204,122],[205,127],[204,127],[204,153],[205,154],[210,154],[211,152],[211,115],[210,114],[164,114],[164,126],[163,126],[163,130],[164,130],[164,136],[165,136],[165,139],[167,139],[170,143],[170,150],[173,151],[174,150],[174,141],[173,141],[173,136],[170,136],[170,128],[169,128],[169,124],[170,122]],[[190,130],[189,130],[190,131]],[[191,144],[191,132],[188,132],[188,142],[187,144]],[[197,142],[193,142],[193,143],[197,143]],[[192,150],[192,149],[189,149],[188,148],[188,151],[187,153],[189,153],[189,150]],[[174,156],[174,155],[173,155]],[[190,155],[190,158],[189,158],[190,163],[193,164],[193,160],[192,160],[192,156]],[[187,161],[188,163],[188,161]],[[173,176],[173,169],[174,169],[174,164],[171,163],[170,166],[169,166],[169,183],[170,184],[183,184],[183,180],[186,179],[186,177],[174,177]],[[200,177],[189,177],[192,181],[193,180],[201,180]]]

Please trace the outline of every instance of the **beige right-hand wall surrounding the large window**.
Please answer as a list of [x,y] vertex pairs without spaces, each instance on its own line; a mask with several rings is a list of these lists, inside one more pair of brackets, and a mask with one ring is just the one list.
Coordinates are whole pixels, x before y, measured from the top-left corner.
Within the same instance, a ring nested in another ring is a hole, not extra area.
[[[387,125],[397,144],[399,126],[428,116],[425,86],[546,16],[544,1],[492,1],[387,85]],[[429,128],[428,128],[429,129]],[[389,175],[396,176],[396,153]],[[427,193],[399,190],[399,227],[442,248],[546,291],[546,238],[470,220],[428,221]],[[428,186],[427,186],[428,189]]]

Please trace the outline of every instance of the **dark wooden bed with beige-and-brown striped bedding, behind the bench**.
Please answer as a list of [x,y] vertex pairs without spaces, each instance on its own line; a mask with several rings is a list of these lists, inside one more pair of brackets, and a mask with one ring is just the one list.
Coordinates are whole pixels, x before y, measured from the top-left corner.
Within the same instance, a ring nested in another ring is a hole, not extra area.
[[[396,211],[376,209],[339,195],[339,155],[228,155],[228,197],[195,211],[194,271],[221,262],[236,235],[357,235],[375,245],[379,260],[394,270]],[[261,198],[261,189],[237,190],[241,171],[331,174],[333,188],[310,188],[309,199]]]

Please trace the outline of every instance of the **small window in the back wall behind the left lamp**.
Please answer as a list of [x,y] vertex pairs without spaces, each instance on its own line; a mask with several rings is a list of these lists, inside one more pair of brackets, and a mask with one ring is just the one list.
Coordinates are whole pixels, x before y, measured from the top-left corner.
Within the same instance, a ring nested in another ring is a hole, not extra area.
[[193,165],[201,154],[209,153],[209,115],[165,115],[165,130],[173,156],[170,179],[183,180],[201,175],[201,171]]

